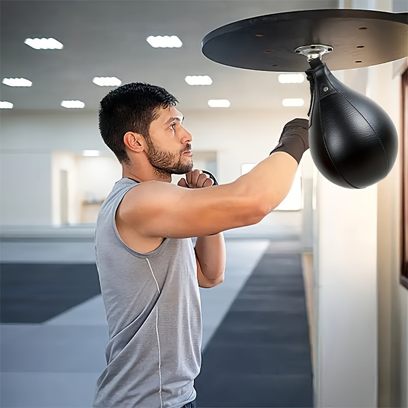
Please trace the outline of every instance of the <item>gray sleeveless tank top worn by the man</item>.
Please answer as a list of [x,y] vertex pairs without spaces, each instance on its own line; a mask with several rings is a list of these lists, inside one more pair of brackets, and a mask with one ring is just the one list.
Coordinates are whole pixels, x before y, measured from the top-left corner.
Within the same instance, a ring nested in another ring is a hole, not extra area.
[[165,239],[143,254],[121,240],[116,209],[137,185],[118,181],[96,222],[96,266],[110,340],[93,406],[181,408],[196,397],[201,365],[194,247],[191,238]]

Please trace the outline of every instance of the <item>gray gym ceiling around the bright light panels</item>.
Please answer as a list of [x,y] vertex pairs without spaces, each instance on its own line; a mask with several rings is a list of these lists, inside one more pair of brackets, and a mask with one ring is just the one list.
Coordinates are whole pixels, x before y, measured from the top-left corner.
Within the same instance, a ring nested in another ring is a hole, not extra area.
[[[303,97],[309,83],[279,84],[276,72],[226,67],[201,53],[201,40],[221,25],[243,18],[305,9],[337,8],[337,0],[125,0],[2,1],[0,72],[27,78],[29,88],[1,84],[1,100],[14,110],[60,110],[79,99],[95,110],[108,87],[94,77],[163,86],[182,109],[210,109],[209,99],[229,99],[232,109],[282,108],[283,98]],[[176,35],[181,48],[152,48],[150,35]],[[35,50],[26,38],[53,37],[62,50]],[[211,86],[189,86],[186,75],[210,75]]]

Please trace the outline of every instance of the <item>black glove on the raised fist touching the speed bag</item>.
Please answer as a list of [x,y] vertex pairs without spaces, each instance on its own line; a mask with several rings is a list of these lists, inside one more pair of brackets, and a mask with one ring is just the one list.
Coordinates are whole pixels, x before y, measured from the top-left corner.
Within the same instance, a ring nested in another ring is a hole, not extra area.
[[279,143],[270,152],[270,155],[276,151],[285,151],[299,164],[303,153],[308,149],[309,120],[296,118],[284,126]]

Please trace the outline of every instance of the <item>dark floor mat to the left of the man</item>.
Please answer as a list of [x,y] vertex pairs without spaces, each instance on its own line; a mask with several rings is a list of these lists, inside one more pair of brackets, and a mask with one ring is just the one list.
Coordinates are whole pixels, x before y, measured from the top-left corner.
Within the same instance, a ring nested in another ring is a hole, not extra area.
[[100,294],[94,264],[2,264],[0,322],[43,323]]

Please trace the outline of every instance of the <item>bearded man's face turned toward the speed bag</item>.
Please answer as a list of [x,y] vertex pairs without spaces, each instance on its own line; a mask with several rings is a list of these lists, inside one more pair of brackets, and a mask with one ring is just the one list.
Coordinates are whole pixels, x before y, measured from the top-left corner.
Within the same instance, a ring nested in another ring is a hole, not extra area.
[[182,126],[183,115],[175,108],[161,108],[150,124],[147,157],[150,164],[168,174],[186,174],[193,168],[191,135]]

